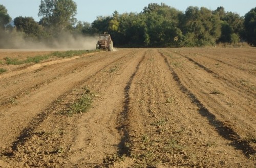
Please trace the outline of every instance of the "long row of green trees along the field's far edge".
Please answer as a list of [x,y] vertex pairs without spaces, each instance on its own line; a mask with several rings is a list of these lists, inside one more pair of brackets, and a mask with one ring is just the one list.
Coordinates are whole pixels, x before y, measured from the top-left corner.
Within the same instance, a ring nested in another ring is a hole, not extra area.
[[223,7],[212,11],[190,6],[182,12],[163,3],[151,3],[140,13],[114,11],[111,16],[98,16],[92,23],[77,21],[76,14],[77,5],[72,0],[41,0],[39,22],[18,16],[13,27],[7,9],[0,5],[0,47],[12,38],[51,44],[65,33],[76,37],[104,32],[111,34],[119,47],[195,47],[239,42],[256,45],[256,7],[240,16]]

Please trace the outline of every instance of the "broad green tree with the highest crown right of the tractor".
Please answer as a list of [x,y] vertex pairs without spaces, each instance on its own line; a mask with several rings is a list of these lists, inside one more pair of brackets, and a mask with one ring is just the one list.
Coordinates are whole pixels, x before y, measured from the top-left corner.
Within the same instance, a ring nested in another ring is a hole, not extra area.
[[182,46],[183,35],[178,28],[182,12],[165,4],[149,4],[143,9],[146,16],[149,46]]

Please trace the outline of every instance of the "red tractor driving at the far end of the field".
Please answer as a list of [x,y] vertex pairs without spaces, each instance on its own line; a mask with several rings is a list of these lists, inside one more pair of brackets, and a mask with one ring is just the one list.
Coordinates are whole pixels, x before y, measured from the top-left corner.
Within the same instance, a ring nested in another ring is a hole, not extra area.
[[113,51],[113,41],[109,34],[99,35],[96,49],[108,49],[108,51]]

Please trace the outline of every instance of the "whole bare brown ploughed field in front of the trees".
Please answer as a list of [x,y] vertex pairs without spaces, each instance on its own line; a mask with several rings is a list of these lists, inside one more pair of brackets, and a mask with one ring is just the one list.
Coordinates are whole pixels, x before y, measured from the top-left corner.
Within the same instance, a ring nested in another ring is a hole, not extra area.
[[0,167],[256,167],[256,48],[49,52],[0,50]]

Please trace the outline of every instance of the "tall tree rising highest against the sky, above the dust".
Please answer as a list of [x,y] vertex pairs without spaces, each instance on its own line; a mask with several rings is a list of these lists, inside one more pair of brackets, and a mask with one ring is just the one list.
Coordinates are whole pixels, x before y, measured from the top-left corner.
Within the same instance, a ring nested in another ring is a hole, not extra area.
[[71,30],[76,23],[77,5],[72,0],[41,0],[39,23],[54,33]]

